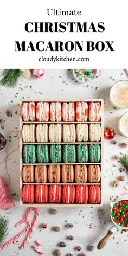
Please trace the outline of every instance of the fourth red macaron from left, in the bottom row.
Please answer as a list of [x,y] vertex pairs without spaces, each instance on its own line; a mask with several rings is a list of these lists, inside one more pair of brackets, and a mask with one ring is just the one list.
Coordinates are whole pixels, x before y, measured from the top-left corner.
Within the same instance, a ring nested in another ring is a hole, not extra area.
[[62,186],[62,202],[63,203],[74,203],[74,201],[75,201],[74,185],[63,185]]

